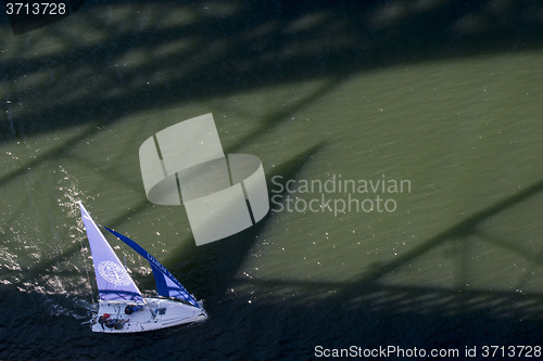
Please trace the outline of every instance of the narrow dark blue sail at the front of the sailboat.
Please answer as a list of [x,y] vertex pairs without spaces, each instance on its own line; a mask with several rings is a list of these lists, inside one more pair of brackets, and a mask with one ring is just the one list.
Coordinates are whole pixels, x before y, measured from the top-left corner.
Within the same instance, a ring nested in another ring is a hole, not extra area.
[[110,230],[106,227],[103,228],[149,261],[149,265],[151,265],[151,269],[153,270],[154,281],[156,282],[156,292],[159,295],[164,297],[181,298],[192,306],[200,308],[200,305],[198,305],[197,300],[187,292],[187,289],[185,289],[181,283],[177,281],[177,279],[164,266],[162,266],[161,262],[151,256],[150,253],[143,249],[143,247],[124,234]]

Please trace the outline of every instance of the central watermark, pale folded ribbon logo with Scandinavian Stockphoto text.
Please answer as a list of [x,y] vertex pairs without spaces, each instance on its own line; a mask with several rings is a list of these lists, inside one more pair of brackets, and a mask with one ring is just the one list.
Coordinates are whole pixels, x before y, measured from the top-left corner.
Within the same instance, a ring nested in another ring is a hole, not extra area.
[[275,212],[393,212],[396,196],[411,193],[411,181],[272,178],[268,197],[261,159],[225,154],[212,114],[180,121],[148,138],[140,146],[141,177],[148,199],[185,205],[195,244],[236,234]]

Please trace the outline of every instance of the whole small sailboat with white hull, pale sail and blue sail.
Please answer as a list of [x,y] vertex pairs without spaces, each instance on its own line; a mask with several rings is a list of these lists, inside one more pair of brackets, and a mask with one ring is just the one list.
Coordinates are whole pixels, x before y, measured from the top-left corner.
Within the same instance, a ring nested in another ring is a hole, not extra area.
[[81,202],[81,218],[90,244],[99,292],[99,308],[90,320],[93,332],[135,333],[204,321],[202,305],[153,256],[126,235],[104,229],[151,265],[159,297],[143,297]]

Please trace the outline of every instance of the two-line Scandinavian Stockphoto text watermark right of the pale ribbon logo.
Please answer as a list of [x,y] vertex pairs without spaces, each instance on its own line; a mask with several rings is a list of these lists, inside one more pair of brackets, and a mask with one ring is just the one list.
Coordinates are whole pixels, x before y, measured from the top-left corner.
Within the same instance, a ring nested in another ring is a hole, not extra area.
[[393,212],[395,196],[411,193],[411,180],[346,179],[333,173],[328,179],[272,178],[272,211],[331,212],[333,217],[350,212]]

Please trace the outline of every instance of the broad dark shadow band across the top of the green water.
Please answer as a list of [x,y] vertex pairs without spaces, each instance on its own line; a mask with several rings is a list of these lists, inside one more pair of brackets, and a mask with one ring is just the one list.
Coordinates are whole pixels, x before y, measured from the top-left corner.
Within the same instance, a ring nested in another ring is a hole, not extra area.
[[[64,20],[33,36],[55,38],[66,48],[0,61],[0,80],[13,85],[4,93],[13,114],[0,123],[1,142],[286,82],[346,79],[383,66],[543,43],[538,1],[156,1],[151,18],[131,12],[141,8],[144,13],[148,2],[128,4],[127,10],[123,1],[87,1],[71,16],[97,27],[98,44],[76,41],[68,28],[74,22]],[[118,18],[105,22],[101,12],[116,7]],[[156,14],[168,10],[194,18],[162,26]],[[138,21],[156,26],[135,27]],[[191,44],[164,51],[182,41]],[[121,63],[136,53],[137,64]],[[16,86],[35,74],[54,79]]]

